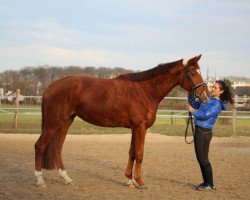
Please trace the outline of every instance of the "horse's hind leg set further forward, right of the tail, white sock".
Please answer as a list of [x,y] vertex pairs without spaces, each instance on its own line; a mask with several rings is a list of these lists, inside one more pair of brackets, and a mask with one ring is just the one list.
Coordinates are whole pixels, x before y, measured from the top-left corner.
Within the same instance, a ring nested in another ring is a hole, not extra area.
[[60,176],[65,180],[65,184],[69,184],[69,183],[72,183],[72,180],[71,178],[68,176],[65,168],[64,168],[64,165],[63,165],[63,161],[62,161],[62,146],[63,146],[63,143],[64,143],[64,140],[66,138],[66,134],[68,132],[68,129],[70,127],[70,125],[73,123],[74,121],[74,118],[70,118],[68,121],[65,122],[65,124],[62,126],[62,128],[59,130],[59,134],[58,134],[58,143],[57,143],[57,149],[58,149],[58,154],[59,154],[59,167],[58,167],[58,170],[59,170],[59,174]]

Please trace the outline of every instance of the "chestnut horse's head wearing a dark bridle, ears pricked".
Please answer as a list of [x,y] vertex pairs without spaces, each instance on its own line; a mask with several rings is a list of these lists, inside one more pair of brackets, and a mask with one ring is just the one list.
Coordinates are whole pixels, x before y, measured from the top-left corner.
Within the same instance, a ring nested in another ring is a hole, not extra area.
[[208,101],[208,87],[200,73],[200,66],[198,64],[200,58],[201,55],[189,60],[182,60],[183,75],[180,76],[179,83],[183,89],[192,94],[193,98],[199,98],[200,101],[206,102]]

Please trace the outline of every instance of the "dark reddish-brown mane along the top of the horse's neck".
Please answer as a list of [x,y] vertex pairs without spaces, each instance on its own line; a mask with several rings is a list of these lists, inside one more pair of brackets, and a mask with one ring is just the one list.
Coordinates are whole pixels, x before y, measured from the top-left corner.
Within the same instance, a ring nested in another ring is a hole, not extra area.
[[170,68],[176,66],[177,62],[178,61],[171,62],[171,63],[159,64],[158,66],[156,66],[152,69],[142,71],[142,72],[122,74],[122,75],[118,76],[117,78],[127,79],[130,81],[146,81],[146,80],[149,80],[155,76],[166,73],[167,71],[169,71]]

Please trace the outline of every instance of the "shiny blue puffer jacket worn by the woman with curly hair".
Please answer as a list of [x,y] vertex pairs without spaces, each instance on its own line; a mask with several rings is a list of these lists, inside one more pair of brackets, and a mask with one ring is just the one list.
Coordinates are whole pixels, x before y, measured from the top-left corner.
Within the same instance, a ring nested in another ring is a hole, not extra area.
[[188,97],[188,102],[194,109],[197,109],[192,113],[195,118],[194,124],[201,128],[212,129],[218,115],[227,108],[226,102],[214,97],[209,97],[209,101],[205,103]]

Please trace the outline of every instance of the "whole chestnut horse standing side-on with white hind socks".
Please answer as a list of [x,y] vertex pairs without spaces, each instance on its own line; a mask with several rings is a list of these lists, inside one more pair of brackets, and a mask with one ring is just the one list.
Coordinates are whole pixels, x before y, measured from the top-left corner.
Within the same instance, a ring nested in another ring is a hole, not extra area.
[[58,169],[66,184],[72,182],[61,152],[67,131],[78,116],[97,126],[131,129],[125,176],[128,185],[145,187],[141,177],[145,135],[155,121],[161,100],[177,85],[207,100],[207,86],[199,72],[200,57],[159,64],[113,79],[69,76],[49,85],[42,98],[42,133],[35,144],[37,186],[45,184],[42,168]]

